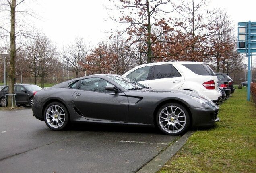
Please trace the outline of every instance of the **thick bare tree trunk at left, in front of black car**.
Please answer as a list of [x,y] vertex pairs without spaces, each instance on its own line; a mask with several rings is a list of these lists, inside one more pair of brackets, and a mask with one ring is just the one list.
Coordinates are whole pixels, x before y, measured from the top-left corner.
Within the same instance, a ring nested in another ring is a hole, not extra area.
[[[10,4],[10,14],[11,14],[11,30],[10,30],[10,68],[9,68],[9,94],[14,93],[14,78],[15,78],[15,61],[16,61],[16,42],[15,42],[15,8],[16,0],[12,0]],[[14,97],[9,95],[8,97],[8,107],[12,107],[12,101],[14,102]],[[16,105],[13,105],[16,107]]]

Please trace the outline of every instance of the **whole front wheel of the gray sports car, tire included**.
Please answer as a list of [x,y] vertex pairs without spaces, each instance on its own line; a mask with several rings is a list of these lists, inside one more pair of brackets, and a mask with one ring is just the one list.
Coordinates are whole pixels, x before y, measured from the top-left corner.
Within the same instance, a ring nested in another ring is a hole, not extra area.
[[167,135],[182,135],[190,126],[189,113],[179,103],[167,103],[161,106],[155,120],[160,131]]

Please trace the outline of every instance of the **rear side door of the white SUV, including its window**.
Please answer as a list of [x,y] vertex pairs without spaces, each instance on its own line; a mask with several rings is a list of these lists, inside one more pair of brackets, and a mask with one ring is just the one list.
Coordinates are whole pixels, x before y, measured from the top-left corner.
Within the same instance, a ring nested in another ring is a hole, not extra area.
[[153,66],[149,87],[153,89],[178,89],[184,83],[184,76],[172,64]]

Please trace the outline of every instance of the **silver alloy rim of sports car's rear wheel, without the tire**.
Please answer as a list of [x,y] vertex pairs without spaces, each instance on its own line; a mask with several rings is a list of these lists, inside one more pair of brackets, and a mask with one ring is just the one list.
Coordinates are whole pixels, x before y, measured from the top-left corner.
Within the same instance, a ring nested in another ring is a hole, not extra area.
[[51,105],[46,111],[47,123],[53,128],[59,128],[63,125],[66,115],[59,105]]

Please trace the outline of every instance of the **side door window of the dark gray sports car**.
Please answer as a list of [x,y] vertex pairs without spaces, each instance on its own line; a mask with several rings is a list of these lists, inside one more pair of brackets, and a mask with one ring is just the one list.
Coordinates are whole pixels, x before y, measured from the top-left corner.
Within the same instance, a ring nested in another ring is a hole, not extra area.
[[80,89],[86,91],[96,91],[100,93],[114,93],[114,91],[105,90],[110,83],[101,78],[87,78],[81,80]]

